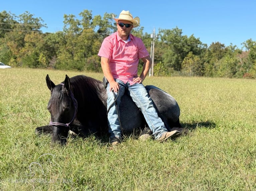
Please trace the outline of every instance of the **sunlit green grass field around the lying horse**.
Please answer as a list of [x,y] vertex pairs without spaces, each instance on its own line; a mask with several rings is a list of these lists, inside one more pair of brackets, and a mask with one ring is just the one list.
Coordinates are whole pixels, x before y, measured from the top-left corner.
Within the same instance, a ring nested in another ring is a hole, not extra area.
[[256,190],[256,81],[147,77],[172,95],[189,134],[159,143],[136,134],[109,149],[106,139],[36,136],[49,123],[45,83],[71,71],[0,70],[0,190]]

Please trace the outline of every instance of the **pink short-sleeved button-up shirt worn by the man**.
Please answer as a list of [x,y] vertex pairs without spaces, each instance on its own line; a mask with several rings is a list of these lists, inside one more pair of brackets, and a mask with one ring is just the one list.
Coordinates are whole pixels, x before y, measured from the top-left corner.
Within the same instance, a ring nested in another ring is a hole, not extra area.
[[114,79],[129,82],[137,76],[140,58],[149,56],[142,40],[129,35],[130,41],[125,43],[117,32],[106,37],[101,45],[98,56],[109,59],[109,66]]

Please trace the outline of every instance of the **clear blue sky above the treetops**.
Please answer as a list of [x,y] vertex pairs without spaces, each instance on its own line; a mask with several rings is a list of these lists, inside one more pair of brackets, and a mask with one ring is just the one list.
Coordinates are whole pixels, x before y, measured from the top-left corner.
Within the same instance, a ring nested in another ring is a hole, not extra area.
[[93,16],[104,13],[119,15],[129,10],[133,17],[140,18],[143,32],[152,33],[155,28],[178,27],[182,35],[194,34],[208,46],[220,42],[242,48],[248,39],[256,41],[255,0],[166,0],[166,1],[102,1],[102,0],[9,0],[2,1],[0,12],[7,11],[16,16],[29,11],[41,17],[48,28],[43,32],[62,31],[64,14],[79,18],[83,10],[91,10]]

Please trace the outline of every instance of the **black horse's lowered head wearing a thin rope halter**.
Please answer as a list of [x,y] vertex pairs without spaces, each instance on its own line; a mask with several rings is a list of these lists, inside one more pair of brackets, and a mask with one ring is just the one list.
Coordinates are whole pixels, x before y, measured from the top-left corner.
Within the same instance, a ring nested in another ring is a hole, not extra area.
[[65,144],[69,125],[74,121],[77,111],[77,102],[70,89],[70,78],[66,75],[63,84],[55,85],[47,75],[46,84],[51,91],[47,109],[51,114],[52,142]]

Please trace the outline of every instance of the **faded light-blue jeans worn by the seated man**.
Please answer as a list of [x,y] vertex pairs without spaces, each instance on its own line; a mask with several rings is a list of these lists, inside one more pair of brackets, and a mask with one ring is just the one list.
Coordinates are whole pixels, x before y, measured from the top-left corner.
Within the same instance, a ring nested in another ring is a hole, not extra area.
[[[149,128],[153,132],[155,139],[160,138],[164,132],[168,131],[164,126],[162,119],[158,116],[157,111],[153,105],[152,99],[149,97],[147,90],[145,89],[143,84],[133,84],[131,86],[129,82],[124,84],[121,80],[118,80],[118,79],[115,79],[115,80],[120,86],[119,96],[116,101],[118,108],[121,102],[121,97],[124,95],[125,89],[127,89],[130,93],[132,100],[140,108]],[[110,105],[114,102],[114,99],[117,96],[117,93],[115,93],[115,97],[114,97],[113,92],[109,91],[109,84],[107,86],[107,94],[108,94],[107,107],[109,109]],[[114,103],[109,109],[108,126],[109,126],[110,138],[112,137],[121,138],[122,130],[121,130],[119,119],[118,119],[116,103]]]

